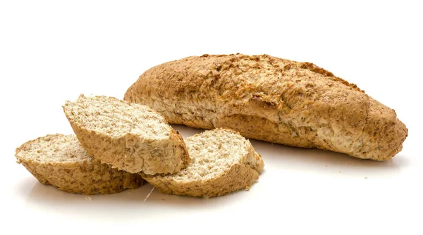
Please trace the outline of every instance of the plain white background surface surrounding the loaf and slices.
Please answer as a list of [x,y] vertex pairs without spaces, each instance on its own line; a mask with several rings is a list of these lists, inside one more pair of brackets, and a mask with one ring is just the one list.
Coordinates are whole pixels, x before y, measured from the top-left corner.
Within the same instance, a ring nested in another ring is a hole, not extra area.
[[[423,234],[418,3],[0,1],[0,234]],[[72,133],[64,101],[123,98],[154,65],[238,52],[309,61],[357,84],[407,125],[403,151],[376,163],[252,141],[266,164],[259,182],[209,199],[154,190],[145,201],[149,184],[75,195],[16,164],[25,141]]]

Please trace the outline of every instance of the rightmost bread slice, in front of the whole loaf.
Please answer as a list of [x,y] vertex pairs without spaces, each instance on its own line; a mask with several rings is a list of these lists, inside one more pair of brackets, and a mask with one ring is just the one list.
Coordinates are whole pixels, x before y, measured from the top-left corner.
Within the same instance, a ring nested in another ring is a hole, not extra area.
[[213,129],[185,139],[191,162],[176,174],[144,179],[159,191],[188,196],[222,196],[250,189],[264,164],[250,141],[231,129]]

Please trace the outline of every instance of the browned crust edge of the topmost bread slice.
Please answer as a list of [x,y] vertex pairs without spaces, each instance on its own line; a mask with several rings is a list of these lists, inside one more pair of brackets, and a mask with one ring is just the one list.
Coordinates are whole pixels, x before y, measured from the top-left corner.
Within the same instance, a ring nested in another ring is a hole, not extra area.
[[63,106],[63,111],[80,144],[102,163],[130,173],[164,174],[179,172],[190,161],[182,136],[170,126],[168,139],[151,140],[130,133],[113,138],[79,125],[68,112],[67,105]]

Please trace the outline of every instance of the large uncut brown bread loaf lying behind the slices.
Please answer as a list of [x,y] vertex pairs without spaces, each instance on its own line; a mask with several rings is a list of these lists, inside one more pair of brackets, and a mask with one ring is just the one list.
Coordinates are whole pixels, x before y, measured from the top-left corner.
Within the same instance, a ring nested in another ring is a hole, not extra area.
[[312,63],[272,56],[192,56],[147,70],[126,91],[168,122],[235,129],[277,144],[387,160],[407,128],[393,109]]

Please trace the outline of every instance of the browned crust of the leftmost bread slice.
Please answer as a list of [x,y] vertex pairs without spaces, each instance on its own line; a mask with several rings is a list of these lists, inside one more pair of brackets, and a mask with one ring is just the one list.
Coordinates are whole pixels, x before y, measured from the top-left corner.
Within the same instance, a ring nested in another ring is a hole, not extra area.
[[31,142],[41,138],[56,138],[61,134],[47,135],[28,141],[16,149],[16,158],[42,184],[51,184],[61,191],[82,194],[118,193],[125,189],[136,189],[144,182],[138,174],[113,169],[94,158],[72,163],[42,163],[22,158],[18,153],[25,151]]

